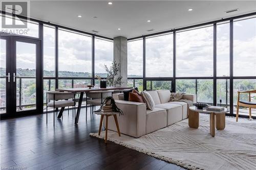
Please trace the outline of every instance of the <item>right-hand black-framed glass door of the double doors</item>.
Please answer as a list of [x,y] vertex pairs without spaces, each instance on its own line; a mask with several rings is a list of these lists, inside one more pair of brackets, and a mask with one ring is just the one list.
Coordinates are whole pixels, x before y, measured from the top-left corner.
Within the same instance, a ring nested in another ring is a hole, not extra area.
[[13,92],[15,112],[40,111],[40,42],[13,38]]

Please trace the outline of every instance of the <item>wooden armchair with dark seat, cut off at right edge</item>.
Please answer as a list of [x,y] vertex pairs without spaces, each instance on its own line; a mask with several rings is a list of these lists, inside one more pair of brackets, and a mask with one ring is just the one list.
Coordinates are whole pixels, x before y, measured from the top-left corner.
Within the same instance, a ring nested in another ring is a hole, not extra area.
[[[248,93],[249,101],[240,101],[241,93]],[[251,108],[256,108],[256,102],[251,101],[251,93],[256,93],[256,90],[238,91],[238,104],[237,104],[237,116],[236,116],[237,122],[238,122],[239,106],[244,106],[249,108],[249,119],[251,119]]]

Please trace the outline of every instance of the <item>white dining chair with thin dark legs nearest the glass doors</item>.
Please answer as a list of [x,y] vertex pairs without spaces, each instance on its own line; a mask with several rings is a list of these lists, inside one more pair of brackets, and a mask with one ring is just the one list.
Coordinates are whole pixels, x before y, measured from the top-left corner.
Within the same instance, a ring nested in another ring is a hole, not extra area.
[[[73,111],[76,112],[76,93],[72,92],[60,92],[60,91],[47,91],[46,92],[46,124],[48,123],[48,107],[53,108],[53,126],[55,126],[55,108],[61,108],[62,111],[65,107],[72,106]],[[72,99],[72,100],[69,100]],[[48,100],[50,102],[48,102]],[[51,102],[52,100],[52,102]],[[75,113],[76,114],[76,113]],[[61,112],[62,116],[62,112]]]

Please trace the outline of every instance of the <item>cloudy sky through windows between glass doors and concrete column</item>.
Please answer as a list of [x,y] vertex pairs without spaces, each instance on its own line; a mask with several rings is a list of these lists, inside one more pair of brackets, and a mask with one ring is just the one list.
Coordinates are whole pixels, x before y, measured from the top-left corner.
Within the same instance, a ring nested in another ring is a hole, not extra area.
[[[54,29],[44,29],[44,69],[54,70]],[[92,73],[92,37],[59,30],[59,71]],[[104,65],[113,60],[113,42],[95,39],[95,72],[104,73]]]

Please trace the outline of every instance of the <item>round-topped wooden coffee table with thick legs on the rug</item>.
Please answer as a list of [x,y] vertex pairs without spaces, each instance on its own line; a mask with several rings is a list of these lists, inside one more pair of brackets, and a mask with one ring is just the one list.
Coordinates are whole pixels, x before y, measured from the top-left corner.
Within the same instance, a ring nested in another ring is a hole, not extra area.
[[[198,109],[196,106],[190,106],[188,111],[188,126],[190,128],[198,129],[199,127],[199,113],[210,114],[210,134],[215,136],[215,126],[218,130],[225,129],[225,113],[229,112],[229,109],[225,108],[223,111],[209,111],[206,107]],[[215,123],[216,116],[216,123]],[[215,125],[216,124],[216,125]]]

